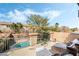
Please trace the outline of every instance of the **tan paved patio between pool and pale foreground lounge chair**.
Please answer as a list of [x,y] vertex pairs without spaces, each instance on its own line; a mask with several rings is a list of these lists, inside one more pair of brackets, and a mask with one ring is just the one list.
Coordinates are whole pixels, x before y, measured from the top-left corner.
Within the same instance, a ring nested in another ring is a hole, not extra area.
[[7,54],[9,56],[34,56],[35,55],[35,46],[29,46],[26,48],[21,48],[13,51],[9,51]]

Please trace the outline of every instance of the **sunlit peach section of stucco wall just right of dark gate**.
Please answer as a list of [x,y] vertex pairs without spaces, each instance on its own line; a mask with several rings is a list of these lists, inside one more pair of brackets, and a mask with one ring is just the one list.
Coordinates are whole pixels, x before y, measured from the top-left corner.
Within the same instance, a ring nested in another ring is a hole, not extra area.
[[51,35],[51,40],[56,39],[56,41],[64,42],[70,33],[65,32],[53,32]]

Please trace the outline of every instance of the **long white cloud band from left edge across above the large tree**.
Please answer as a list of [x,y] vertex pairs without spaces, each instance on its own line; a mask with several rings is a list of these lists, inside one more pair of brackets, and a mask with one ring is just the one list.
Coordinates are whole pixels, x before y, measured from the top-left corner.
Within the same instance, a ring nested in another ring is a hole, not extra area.
[[11,21],[11,22],[21,22],[26,23],[28,16],[31,14],[40,15],[43,17],[47,17],[49,20],[53,20],[54,18],[57,18],[61,15],[60,11],[57,10],[48,10],[43,12],[36,12],[32,9],[26,9],[24,11],[19,11],[15,9],[14,11],[10,11],[7,14],[0,14],[0,19],[3,21]]

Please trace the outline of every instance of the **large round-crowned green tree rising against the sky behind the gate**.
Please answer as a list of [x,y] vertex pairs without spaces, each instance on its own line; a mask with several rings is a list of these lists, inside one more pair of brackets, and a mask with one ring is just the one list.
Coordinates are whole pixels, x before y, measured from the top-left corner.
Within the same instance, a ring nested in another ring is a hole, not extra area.
[[28,17],[28,21],[30,25],[39,27],[36,32],[45,31],[47,29],[48,19],[40,15],[31,15]]

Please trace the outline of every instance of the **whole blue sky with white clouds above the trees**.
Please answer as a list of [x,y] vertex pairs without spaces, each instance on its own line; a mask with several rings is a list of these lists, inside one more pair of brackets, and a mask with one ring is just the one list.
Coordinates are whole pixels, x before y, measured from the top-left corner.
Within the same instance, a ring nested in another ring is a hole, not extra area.
[[49,25],[78,27],[78,5],[76,3],[0,3],[1,22],[26,23],[31,14],[49,19]]

